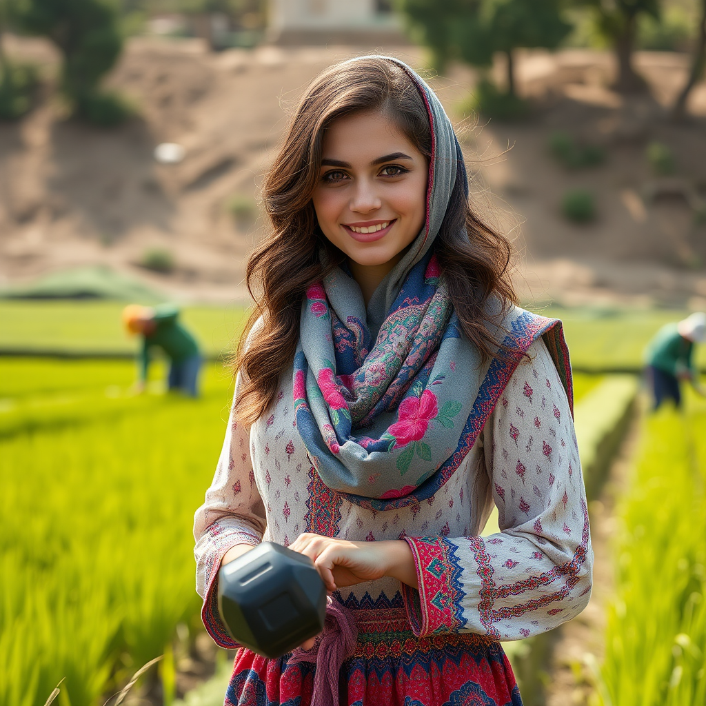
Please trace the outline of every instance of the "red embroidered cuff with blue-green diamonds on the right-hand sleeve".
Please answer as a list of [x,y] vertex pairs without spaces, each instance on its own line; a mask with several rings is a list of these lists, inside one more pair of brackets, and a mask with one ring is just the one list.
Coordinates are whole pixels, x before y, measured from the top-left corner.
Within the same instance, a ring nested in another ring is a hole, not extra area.
[[402,597],[414,635],[457,633],[465,626],[462,614],[462,569],[456,546],[445,537],[405,537],[412,549],[419,590],[402,585]]

